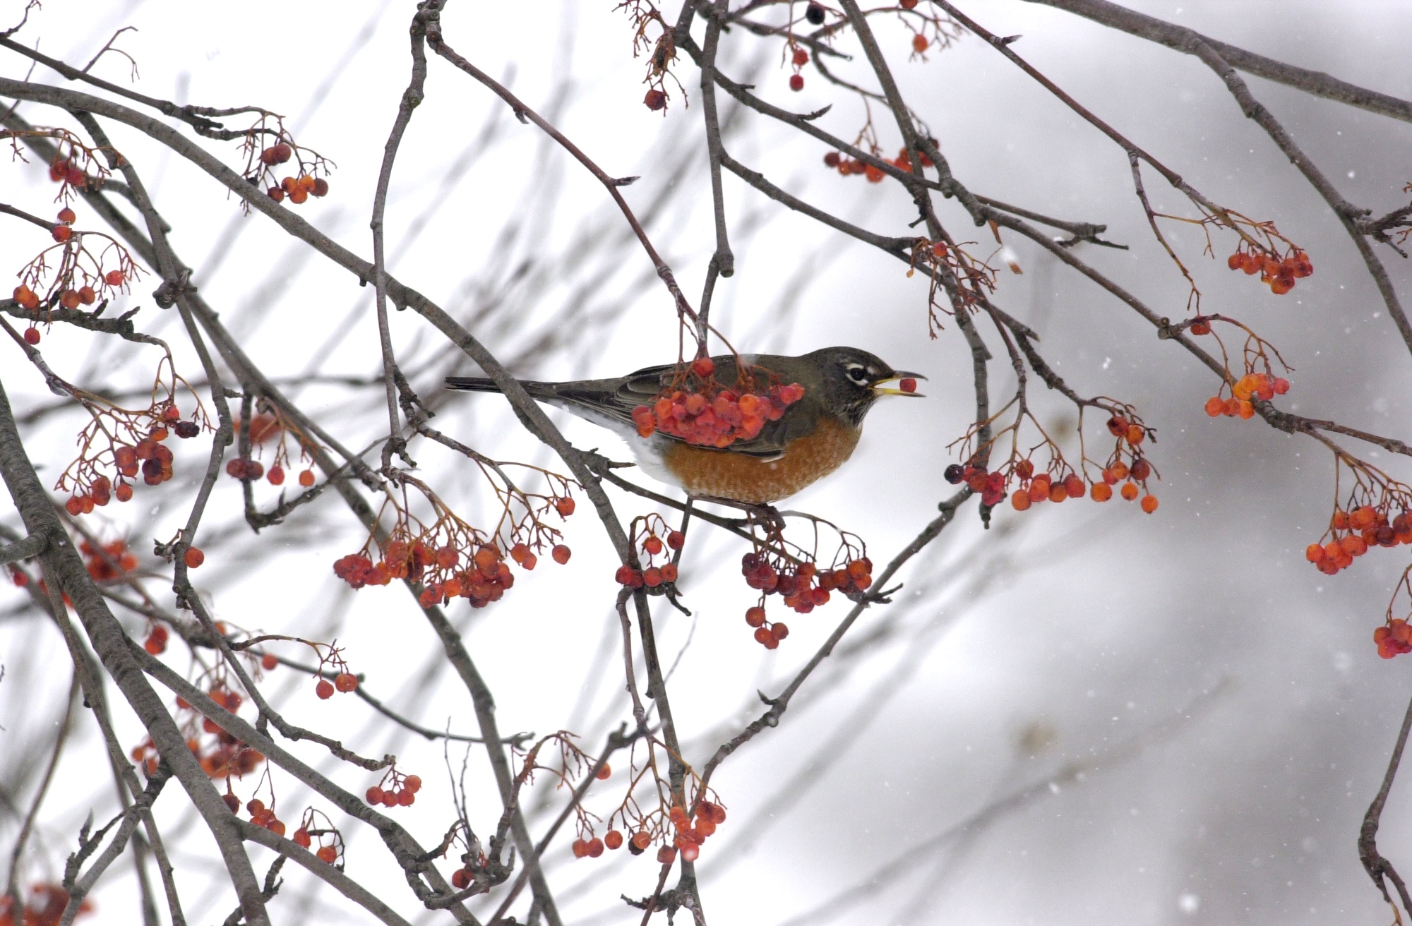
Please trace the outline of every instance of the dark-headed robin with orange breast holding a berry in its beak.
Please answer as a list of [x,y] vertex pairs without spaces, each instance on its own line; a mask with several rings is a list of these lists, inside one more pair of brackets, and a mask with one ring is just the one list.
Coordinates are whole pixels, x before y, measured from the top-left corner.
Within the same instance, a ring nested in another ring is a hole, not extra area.
[[[541,402],[568,409],[580,418],[621,435],[637,464],[654,479],[682,488],[693,498],[723,498],[747,505],[765,505],[786,498],[827,476],[853,455],[863,435],[863,418],[882,395],[919,395],[885,387],[897,380],[925,380],[919,373],[894,370],[857,347],[825,347],[801,357],[741,354],[747,373],[761,383],[798,384],[803,395],[775,421],[764,422],[753,438],[724,447],[700,446],[637,418],[664,390],[679,383],[676,366],[647,367],[611,380],[572,383],[521,381]],[[698,361],[699,363],[699,361]],[[740,368],[734,356],[712,357],[709,374],[723,390],[738,388]],[[498,392],[493,380],[446,377],[446,387],[470,392]]]

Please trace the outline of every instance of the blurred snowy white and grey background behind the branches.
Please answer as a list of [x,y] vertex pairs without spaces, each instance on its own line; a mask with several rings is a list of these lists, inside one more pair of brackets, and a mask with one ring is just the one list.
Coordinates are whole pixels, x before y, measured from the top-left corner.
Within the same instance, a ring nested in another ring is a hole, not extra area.
[[[1125,6],[1412,97],[1405,66],[1412,11],[1401,3],[1250,0],[1238,14],[1210,0]],[[21,8],[17,0],[0,4],[3,21],[17,21]],[[301,144],[337,164],[329,196],[301,215],[370,255],[367,216],[409,75],[414,8],[409,0],[51,0],[18,38],[82,65],[114,30],[133,25],[137,31],[117,45],[136,61],[137,90],[285,114]],[[671,20],[676,8],[664,13]],[[995,34],[1022,35],[1012,45],[1018,54],[1209,198],[1272,219],[1299,243],[1315,274],[1276,298],[1226,268],[1234,240],[1219,239],[1210,260],[1202,257],[1199,229],[1163,226],[1193,268],[1206,311],[1241,319],[1295,367],[1285,407],[1406,439],[1409,415],[1396,397],[1405,395],[1412,367],[1357,253],[1204,65],[1048,7],[1007,0],[963,8]],[[630,20],[607,0],[460,0],[443,24],[452,47],[510,85],[609,174],[641,175],[624,195],[695,301],[713,229],[699,75],[689,59],[675,68],[689,104],[674,92],[664,116],[642,106],[645,61],[633,58]],[[888,17],[874,28],[959,179],[1046,215],[1107,223],[1104,237],[1130,250],[1080,244],[1076,253],[1155,311],[1185,315],[1186,287],[1147,227],[1118,148],[973,37],[909,61],[905,28]],[[792,93],[781,47],[733,30],[722,40],[720,68],[795,112],[833,104],[819,124],[851,138],[866,121],[857,97],[812,66],[803,90]],[[28,62],[7,52],[0,68],[23,78]],[[864,68],[858,58],[833,69],[871,86]],[[95,72],[119,83],[131,76],[112,54]],[[59,82],[42,68],[32,79]],[[1377,215],[1405,203],[1412,126],[1247,80],[1346,198]],[[724,144],[737,160],[851,222],[908,233],[915,210],[899,185],[842,178],[823,167],[825,147],[741,112],[724,93],[720,103]],[[37,106],[17,112],[37,124],[66,124]],[[874,116],[884,151],[895,152],[902,144],[895,126],[881,112]],[[385,414],[370,289],[268,220],[241,215],[234,199],[160,145],[121,126],[112,134],[174,226],[172,241],[196,268],[201,292],[263,370],[288,383],[289,395],[346,445],[376,439]],[[233,144],[203,144],[230,165],[241,162]],[[44,164],[14,160],[0,169],[6,202],[41,215],[56,208]],[[1149,172],[1147,181],[1158,210],[1192,215],[1159,178]],[[785,210],[729,174],[724,189],[737,272],[717,285],[713,320],[737,347],[802,353],[854,344],[931,377],[925,402],[881,404],[853,462],[788,504],[861,535],[882,563],[952,491],[942,479],[956,462],[947,445],[974,408],[964,342],[950,323],[928,337],[921,275],[909,279],[898,261]],[[973,253],[993,250],[988,230],[971,227],[953,202],[939,209],[959,240],[976,241]],[[80,227],[97,226],[78,210]],[[520,375],[614,375],[675,357],[672,303],[603,189],[445,62],[432,61],[426,100],[404,140],[387,227],[391,271]],[[0,223],[8,265],[18,270],[44,244],[41,234]],[[1258,421],[1209,419],[1202,405],[1217,381],[1207,370],[1039,248],[1015,236],[1007,246],[1024,272],[1003,271],[995,302],[1041,333],[1041,350],[1079,392],[1134,402],[1158,429],[1151,459],[1162,476],[1155,483],[1161,508],[1149,517],[1121,501],[1024,514],[1003,507],[984,531],[974,505],[967,507],[904,570],[894,603],[854,625],[781,726],[714,776],[729,820],[699,862],[707,918],[764,925],[1385,920],[1354,843],[1412,696],[1406,663],[1380,659],[1371,641],[1405,555],[1374,551],[1334,577],[1310,567],[1303,548],[1319,538],[1333,505],[1330,455]],[[1406,261],[1385,248],[1380,255],[1406,298]],[[141,330],[181,343],[178,367],[196,377],[178,319],[152,305],[150,282],[116,308],[143,306]],[[439,412],[435,426],[498,459],[562,469],[498,397],[439,394],[442,375],[476,370],[429,326],[394,313],[393,332],[402,368]],[[1014,377],[1003,346],[991,340],[991,394],[1005,397]],[[89,388],[145,388],[155,361],[151,349],[62,326],[41,349],[61,375]],[[13,350],[3,378],[17,415],[28,415],[27,443],[45,463],[41,477],[56,479],[80,419],[54,408],[41,378]],[[1070,449],[1072,409],[1038,392],[1036,414],[1051,433],[1070,439]],[[555,415],[576,446],[627,459],[617,438]],[[191,443],[202,446],[178,455],[172,483],[140,487],[131,504],[86,518],[104,536],[128,539],[152,576],[148,587],[168,606],[151,541],[168,539],[185,521],[206,453],[205,440]],[[1412,470],[1377,450],[1350,449],[1394,477]],[[469,521],[494,511],[487,486],[463,460],[424,443],[414,456]],[[257,483],[256,494],[268,508],[278,490]],[[613,498],[624,517],[654,510],[634,495],[614,491]],[[7,505],[0,517],[18,524]],[[566,566],[545,558],[503,601],[450,613],[494,692],[501,731],[566,728],[597,751],[631,713],[611,611],[614,560],[602,525],[587,508],[580,512],[566,527],[575,551]],[[432,728],[474,733],[470,699],[411,597],[397,587],[354,593],[332,575],[332,560],[364,539],[332,494],[253,535],[241,519],[239,484],[223,477],[203,525],[206,566],[193,580],[220,620],[336,638],[353,671],[364,673],[366,689],[391,707]],[[778,651],[761,649],[741,620],[753,604],[738,576],[743,552],[740,541],[698,529],[681,582],[693,615],[666,607],[655,614],[662,658],[674,666],[672,704],[686,759],[698,766],[758,716],[757,689],[778,692],[846,613],[833,603],[792,617],[789,639]],[[18,590],[0,596],[0,848],[13,844],[30,806],[69,690],[62,639],[27,601]],[[140,617],[120,618],[143,634]],[[167,659],[188,665],[178,647]],[[364,755],[395,752],[400,768],[426,781],[417,806],[397,813],[424,844],[439,840],[453,819],[448,768],[459,774],[463,748],[390,726],[352,697],[321,702],[312,679],[288,669],[270,673],[265,689],[294,723]],[[140,724],[121,704],[116,711],[120,738],[136,745],[144,737]],[[299,754],[350,790],[376,783],[313,748]],[[97,730],[79,711],[21,882],[58,881],[85,817],[92,812],[102,822],[114,812],[112,782],[92,774],[102,762]],[[472,823],[489,830],[498,800],[484,754],[473,751],[467,768]],[[606,816],[624,781],[620,769],[596,786],[587,807]],[[247,778],[237,793],[247,796],[253,785]],[[275,776],[275,789],[284,819],[311,803],[287,776]],[[1394,788],[1380,833],[1381,850],[1404,872],[1412,868],[1409,789],[1406,781]],[[542,833],[563,800],[542,779],[530,798],[531,830]],[[225,918],[233,894],[205,826],[181,796],[164,796],[155,810],[185,872],[188,918]],[[418,912],[376,836],[353,824],[345,836],[349,874],[412,922],[449,922]],[[561,836],[545,857],[566,922],[640,919],[618,895],[651,894],[657,865],[626,853],[576,861],[570,838]],[[250,851],[263,872],[270,853]],[[140,922],[131,870],[123,867],[128,860],[93,894],[104,922]],[[285,878],[271,905],[275,922],[371,922],[302,870],[289,867]],[[513,910],[521,919],[527,903]],[[489,915],[491,905],[474,909]]]

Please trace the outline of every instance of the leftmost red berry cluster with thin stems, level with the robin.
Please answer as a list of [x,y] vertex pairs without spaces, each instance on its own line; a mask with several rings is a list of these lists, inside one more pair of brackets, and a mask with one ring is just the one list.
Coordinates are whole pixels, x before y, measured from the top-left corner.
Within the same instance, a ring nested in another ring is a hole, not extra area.
[[[162,364],[169,364],[169,359],[164,359]],[[171,381],[162,383],[158,373],[152,405],[137,411],[119,408],[88,392],[78,392],[76,398],[90,419],[79,432],[78,459],[55,484],[59,491],[72,491],[64,504],[69,514],[75,517],[89,514],[95,507],[103,507],[113,498],[128,501],[138,473],[148,486],[161,486],[172,479],[174,456],[164,442],[172,433],[188,439],[201,433],[203,426],[209,428],[199,402],[191,419],[182,419],[172,397],[178,381],[181,378],[171,374]],[[165,398],[157,398],[160,390],[167,390]],[[112,471],[112,476],[102,470]]]

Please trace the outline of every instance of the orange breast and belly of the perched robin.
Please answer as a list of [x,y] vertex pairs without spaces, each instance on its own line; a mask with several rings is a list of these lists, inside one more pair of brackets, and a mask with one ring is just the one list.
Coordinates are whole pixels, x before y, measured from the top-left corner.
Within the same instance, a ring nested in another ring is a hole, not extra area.
[[820,418],[815,432],[791,440],[778,460],[674,443],[662,463],[690,495],[767,504],[788,498],[843,466],[861,433],[834,418]]

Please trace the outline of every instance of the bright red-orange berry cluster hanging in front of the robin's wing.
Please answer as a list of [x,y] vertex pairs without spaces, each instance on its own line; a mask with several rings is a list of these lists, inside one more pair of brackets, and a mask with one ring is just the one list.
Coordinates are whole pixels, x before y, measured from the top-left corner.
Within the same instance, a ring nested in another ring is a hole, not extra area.
[[654,404],[635,407],[637,433],[651,438],[661,431],[688,443],[729,447],[758,436],[767,421],[779,421],[786,408],[803,398],[798,383],[772,383],[765,392],[722,388],[712,377],[714,371],[716,363],[702,357],[690,364],[690,375],[682,383],[685,390],[664,390]]

